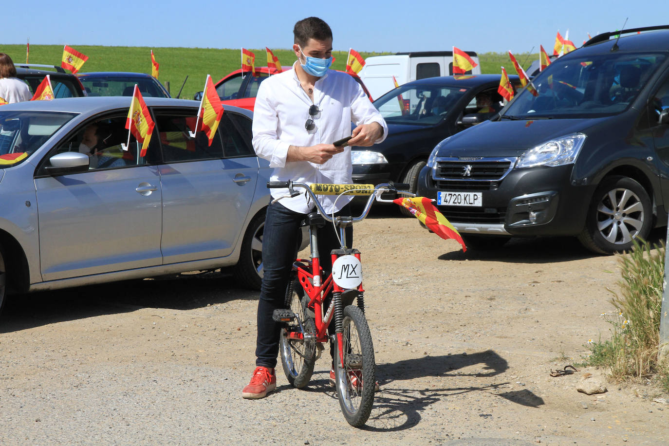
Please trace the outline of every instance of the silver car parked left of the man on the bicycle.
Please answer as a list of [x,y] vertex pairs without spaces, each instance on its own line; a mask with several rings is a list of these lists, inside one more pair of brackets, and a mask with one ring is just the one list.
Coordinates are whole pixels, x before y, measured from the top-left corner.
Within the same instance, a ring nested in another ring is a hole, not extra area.
[[130,98],[0,107],[0,308],[6,290],[225,266],[260,287],[271,169],[252,113],[227,106],[209,144],[193,133],[199,102],[146,102],[145,156],[125,128]]

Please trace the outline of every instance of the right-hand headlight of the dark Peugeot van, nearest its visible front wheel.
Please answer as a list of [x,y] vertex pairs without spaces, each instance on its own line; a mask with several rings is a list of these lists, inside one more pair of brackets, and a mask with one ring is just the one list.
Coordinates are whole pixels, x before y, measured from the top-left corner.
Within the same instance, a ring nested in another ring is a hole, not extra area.
[[585,135],[574,133],[535,146],[520,155],[516,167],[563,166],[573,164],[583,147]]

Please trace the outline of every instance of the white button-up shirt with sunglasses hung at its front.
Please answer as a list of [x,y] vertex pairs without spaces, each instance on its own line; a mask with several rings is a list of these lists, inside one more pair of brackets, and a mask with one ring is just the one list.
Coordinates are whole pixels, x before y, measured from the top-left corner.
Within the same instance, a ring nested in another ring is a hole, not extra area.
[[[295,62],[296,64],[298,62]],[[385,120],[369,102],[369,98],[349,74],[328,70],[314,84],[314,102],[300,86],[300,80],[293,70],[270,76],[260,84],[253,118],[253,146],[256,154],[270,162],[274,167],[271,181],[296,183],[334,183],[353,184],[351,173],[351,148],[346,147],[323,164],[308,161],[286,162],[289,146],[314,146],[332,144],[332,142],[351,136],[351,122],[355,125],[378,122],[383,126],[381,142],[388,134]],[[318,106],[320,112],[309,116],[309,108]],[[306,120],[316,124],[308,132],[304,126]],[[261,185],[263,187],[264,185]],[[298,190],[299,191],[299,190]],[[288,193],[288,189],[271,189],[272,197],[277,198]],[[319,201],[325,211],[339,211],[353,197],[320,195]],[[288,209],[298,213],[309,213],[314,203],[306,199],[305,193],[294,198],[280,201]]]

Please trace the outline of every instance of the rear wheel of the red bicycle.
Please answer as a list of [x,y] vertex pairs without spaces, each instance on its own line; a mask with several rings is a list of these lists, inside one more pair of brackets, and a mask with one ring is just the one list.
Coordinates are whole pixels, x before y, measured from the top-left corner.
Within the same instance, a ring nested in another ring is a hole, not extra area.
[[302,298],[304,290],[297,280],[291,280],[286,288],[286,304],[300,318],[304,328],[304,339],[289,339],[289,332],[300,333],[297,320],[290,322],[281,330],[280,347],[281,365],[288,382],[302,388],[309,383],[316,362],[316,323],[306,310],[306,300]]

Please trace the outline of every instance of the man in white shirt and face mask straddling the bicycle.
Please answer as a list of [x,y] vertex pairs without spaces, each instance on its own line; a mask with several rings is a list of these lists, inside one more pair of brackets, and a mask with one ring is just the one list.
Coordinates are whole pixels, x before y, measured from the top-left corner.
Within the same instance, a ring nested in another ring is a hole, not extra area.
[[[258,156],[274,167],[271,181],[352,184],[351,149],[332,142],[352,136],[349,146],[371,146],[388,134],[383,117],[349,74],[329,70],[332,31],[318,17],[308,17],[293,29],[296,58],[292,70],[271,76],[260,84],[254,106],[253,146]],[[351,132],[351,122],[356,127]],[[272,197],[288,189],[272,189]],[[351,197],[325,196],[328,213],[351,215]],[[276,356],[280,325],[272,314],[284,308],[290,267],[297,254],[300,221],[314,207],[304,194],[270,203],[262,243],[263,280],[258,301],[256,370],[242,397],[263,398],[276,388]],[[347,228],[353,240],[353,228]],[[339,247],[337,235],[326,225],[318,232],[320,252]],[[325,273],[330,256],[320,257]]]

